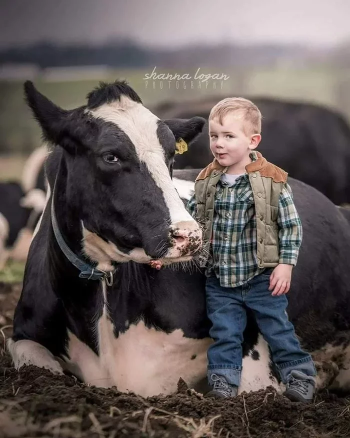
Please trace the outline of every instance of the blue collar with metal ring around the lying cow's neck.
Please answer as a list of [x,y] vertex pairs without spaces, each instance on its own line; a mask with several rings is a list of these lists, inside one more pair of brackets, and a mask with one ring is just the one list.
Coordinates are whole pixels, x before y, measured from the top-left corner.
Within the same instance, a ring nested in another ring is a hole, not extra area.
[[52,200],[51,200],[51,223],[52,223],[54,236],[62,253],[66,256],[66,258],[70,261],[70,263],[80,271],[79,274],[80,278],[87,278],[88,280],[101,280],[101,281],[106,280],[107,285],[111,286],[113,282],[112,272],[104,272],[100,269],[93,267],[89,263],[85,263],[84,261],[80,260],[65,243],[59,231],[56,215],[54,213],[53,195],[54,195],[54,190],[52,191]]

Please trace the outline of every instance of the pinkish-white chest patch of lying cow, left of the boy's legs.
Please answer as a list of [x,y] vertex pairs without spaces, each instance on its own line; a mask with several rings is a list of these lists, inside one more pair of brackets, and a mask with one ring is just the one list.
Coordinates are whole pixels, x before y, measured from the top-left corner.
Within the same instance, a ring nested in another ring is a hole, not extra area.
[[98,322],[98,337],[101,365],[120,391],[144,397],[170,394],[180,377],[190,386],[206,377],[209,338],[186,338],[180,329],[168,334],[143,321],[116,338],[105,315]]

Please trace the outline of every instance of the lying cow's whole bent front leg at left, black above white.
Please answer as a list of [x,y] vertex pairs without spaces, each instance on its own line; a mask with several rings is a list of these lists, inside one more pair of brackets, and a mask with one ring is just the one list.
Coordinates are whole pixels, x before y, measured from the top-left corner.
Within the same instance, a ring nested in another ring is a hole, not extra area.
[[35,236],[29,250],[23,288],[13,317],[13,334],[7,341],[14,366],[36,365],[62,372],[56,357],[66,353],[67,326],[62,302],[53,292],[42,267],[42,251]]

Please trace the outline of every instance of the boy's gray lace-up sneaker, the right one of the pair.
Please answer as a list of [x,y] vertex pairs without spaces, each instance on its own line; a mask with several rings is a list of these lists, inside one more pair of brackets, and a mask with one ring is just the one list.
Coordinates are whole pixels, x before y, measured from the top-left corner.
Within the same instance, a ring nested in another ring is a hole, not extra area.
[[289,374],[286,390],[283,392],[291,401],[310,403],[315,390],[315,381],[312,376],[293,370]]

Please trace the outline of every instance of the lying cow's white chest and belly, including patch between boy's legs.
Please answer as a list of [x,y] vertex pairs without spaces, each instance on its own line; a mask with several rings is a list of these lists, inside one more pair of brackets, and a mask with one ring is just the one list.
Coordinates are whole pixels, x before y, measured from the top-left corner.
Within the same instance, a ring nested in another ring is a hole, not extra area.
[[[106,300],[105,288],[103,297]],[[86,383],[116,386],[122,392],[135,392],[144,397],[171,394],[181,377],[190,387],[207,375],[207,349],[210,338],[186,338],[181,329],[165,333],[148,328],[142,320],[136,324],[125,321],[125,332],[114,335],[113,324],[104,306],[96,324],[98,356],[69,333],[66,367]],[[278,384],[270,376],[268,346],[261,335],[252,353],[243,358],[239,393]]]

